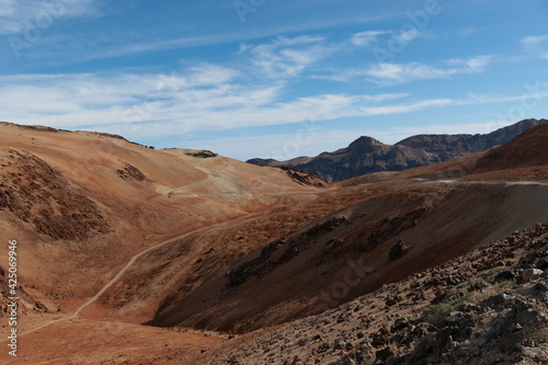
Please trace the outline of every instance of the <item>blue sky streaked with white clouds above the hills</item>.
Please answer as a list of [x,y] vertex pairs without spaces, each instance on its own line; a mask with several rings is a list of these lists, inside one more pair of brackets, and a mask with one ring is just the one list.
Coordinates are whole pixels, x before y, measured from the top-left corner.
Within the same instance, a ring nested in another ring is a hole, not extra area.
[[0,119],[246,160],[548,117],[540,0],[0,0]]

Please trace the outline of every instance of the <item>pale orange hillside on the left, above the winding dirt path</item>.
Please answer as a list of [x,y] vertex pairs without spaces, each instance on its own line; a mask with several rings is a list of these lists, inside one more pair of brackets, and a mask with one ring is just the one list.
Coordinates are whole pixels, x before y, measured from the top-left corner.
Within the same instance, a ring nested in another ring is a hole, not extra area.
[[[309,201],[323,184],[104,134],[2,123],[0,146],[0,236],[20,243],[20,282],[35,309],[39,303],[50,310],[73,308],[149,247]],[[0,273],[7,254],[0,250]]]

